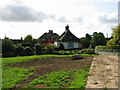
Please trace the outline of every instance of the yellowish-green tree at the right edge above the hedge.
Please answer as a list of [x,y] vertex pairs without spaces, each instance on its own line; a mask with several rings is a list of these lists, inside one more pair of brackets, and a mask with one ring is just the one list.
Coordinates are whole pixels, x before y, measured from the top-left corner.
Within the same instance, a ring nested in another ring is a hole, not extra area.
[[112,37],[107,45],[120,45],[120,25],[113,29]]

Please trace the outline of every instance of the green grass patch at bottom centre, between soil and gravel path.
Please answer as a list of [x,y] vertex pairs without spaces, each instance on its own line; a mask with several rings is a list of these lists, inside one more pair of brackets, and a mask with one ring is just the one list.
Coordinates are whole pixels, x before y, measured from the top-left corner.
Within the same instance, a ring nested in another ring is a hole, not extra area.
[[[49,88],[85,88],[87,83],[87,76],[89,75],[89,67],[83,70],[62,70],[43,75],[32,82],[30,82],[24,88],[36,88],[39,85],[45,85]],[[70,81],[72,80],[72,81]]]

